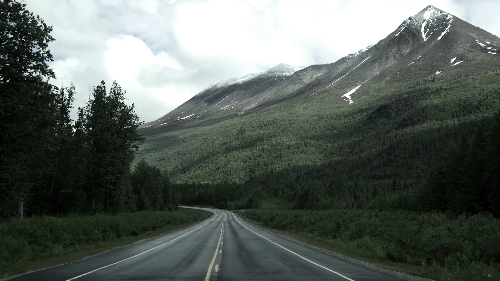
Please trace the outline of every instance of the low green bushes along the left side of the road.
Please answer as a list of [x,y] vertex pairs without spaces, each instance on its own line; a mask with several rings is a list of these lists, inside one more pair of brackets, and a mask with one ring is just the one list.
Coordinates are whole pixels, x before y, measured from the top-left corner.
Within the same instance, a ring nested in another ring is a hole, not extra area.
[[58,256],[122,236],[190,222],[209,212],[195,209],[142,211],[117,215],[69,215],[11,218],[0,223],[0,268],[9,264]]

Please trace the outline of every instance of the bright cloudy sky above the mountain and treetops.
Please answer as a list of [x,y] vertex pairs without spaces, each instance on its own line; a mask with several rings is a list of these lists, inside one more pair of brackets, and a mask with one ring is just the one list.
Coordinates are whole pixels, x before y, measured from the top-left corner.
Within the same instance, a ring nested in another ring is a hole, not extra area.
[[[220,80],[280,62],[330,63],[434,5],[500,35],[498,0],[24,0],[52,25],[57,80],[77,89],[116,80],[142,121]],[[72,117],[76,118],[76,110]]]

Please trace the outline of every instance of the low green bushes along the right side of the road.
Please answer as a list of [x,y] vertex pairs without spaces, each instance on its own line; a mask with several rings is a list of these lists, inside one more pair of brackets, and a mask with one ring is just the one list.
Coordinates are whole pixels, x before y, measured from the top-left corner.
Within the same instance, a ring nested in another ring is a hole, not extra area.
[[441,212],[330,209],[243,214],[272,228],[321,237],[365,257],[434,272],[458,271],[460,276],[478,276],[487,268],[483,274],[500,279],[495,275],[500,272],[500,220],[489,213],[449,217]]

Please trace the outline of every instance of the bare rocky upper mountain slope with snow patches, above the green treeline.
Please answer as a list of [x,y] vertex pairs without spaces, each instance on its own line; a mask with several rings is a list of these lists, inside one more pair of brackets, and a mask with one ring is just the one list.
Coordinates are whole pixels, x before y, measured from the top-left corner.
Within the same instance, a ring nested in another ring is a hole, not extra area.
[[494,69],[499,49],[498,36],[427,6],[378,43],[336,62],[308,67],[281,63],[261,73],[220,81],[143,127],[185,122],[224,111],[242,113],[306,92],[336,94],[351,103],[353,96],[366,93],[363,88],[377,82],[404,81],[408,75],[425,80]]

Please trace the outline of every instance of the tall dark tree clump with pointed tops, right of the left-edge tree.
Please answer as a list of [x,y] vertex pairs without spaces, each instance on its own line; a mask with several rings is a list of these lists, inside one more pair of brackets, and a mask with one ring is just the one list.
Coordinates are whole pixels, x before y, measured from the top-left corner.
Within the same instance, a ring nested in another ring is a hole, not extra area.
[[81,137],[86,163],[85,194],[92,211],[116,212],[123,192],[125,174],[130,168],[141,122],[134,105],[125,103],[125,91],[113,82],[106,92],[104,81],[93,90],[93,98],[85,108],[79,108],[75,128]]

